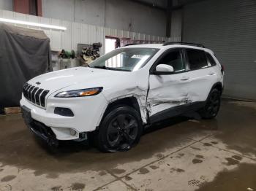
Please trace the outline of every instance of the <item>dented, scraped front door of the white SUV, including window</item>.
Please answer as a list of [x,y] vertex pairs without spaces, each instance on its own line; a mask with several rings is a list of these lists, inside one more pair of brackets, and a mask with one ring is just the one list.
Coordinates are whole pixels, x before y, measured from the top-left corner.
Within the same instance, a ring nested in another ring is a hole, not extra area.
[[182,49],[167,50],[153,65],[173,66],[173,74],[150,74],[147,109],[151,121],[162,120],[176,114],[177,107],[189,103],[189,77]]

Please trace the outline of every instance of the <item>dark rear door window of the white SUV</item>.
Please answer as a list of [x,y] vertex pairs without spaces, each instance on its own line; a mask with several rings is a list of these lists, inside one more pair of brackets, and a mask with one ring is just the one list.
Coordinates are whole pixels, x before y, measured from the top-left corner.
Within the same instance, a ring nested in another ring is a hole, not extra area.
[[187,49],[189,69],[203,69],[208,67],[206,53],[203,50]]

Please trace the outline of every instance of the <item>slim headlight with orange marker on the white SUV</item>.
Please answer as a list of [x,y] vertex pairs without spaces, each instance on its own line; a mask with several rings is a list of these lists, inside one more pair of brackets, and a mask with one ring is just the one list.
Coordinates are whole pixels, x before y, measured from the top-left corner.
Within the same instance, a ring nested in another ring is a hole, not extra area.
[[94,87],[82,90],[71,90],[57,93],[54,97],[56,98],[72,98],[72,97],[83,97],[90,95],[97,95],[101,93],[103,87]]

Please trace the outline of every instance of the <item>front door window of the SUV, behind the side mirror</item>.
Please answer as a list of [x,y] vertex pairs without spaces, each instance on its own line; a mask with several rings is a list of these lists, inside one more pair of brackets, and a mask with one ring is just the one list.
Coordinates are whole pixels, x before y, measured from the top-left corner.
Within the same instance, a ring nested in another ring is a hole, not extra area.
[[182,59],[181,50],[173,50],[165,55],[158,64],[167,64],[173,66],[174,72],[185,71],[185,63]]

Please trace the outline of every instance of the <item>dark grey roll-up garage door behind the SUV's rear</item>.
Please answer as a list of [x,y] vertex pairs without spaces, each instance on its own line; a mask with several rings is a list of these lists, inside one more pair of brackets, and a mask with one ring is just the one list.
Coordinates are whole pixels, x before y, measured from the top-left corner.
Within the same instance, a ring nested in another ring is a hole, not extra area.
[[224,95],[256,100],[256,1],[205,0],[184,7],[182,41],[205,44],[225,66]]

